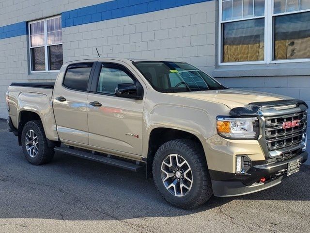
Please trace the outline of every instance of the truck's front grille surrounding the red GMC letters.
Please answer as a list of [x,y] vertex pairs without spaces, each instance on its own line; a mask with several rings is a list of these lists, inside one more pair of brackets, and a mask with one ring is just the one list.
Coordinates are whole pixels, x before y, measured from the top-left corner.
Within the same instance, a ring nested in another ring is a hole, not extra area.
[[[298,126],[288,129],[283,128],[284,122],[300,120]],[[303,135],[307,131],[307,112],[294,113],[290,115],[266,117],[264,120],[264,137],[269,153],[280,150],[279,159],[289,158],[296,154],[290,150],[303,141]],[[287,151],[286,151],[287,149]]]

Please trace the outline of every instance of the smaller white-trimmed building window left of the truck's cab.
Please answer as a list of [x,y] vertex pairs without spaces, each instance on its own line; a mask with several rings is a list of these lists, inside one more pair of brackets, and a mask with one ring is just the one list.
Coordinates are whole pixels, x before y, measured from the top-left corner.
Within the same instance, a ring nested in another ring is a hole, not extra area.
[[28,27],[31,72],[60,70],[63,63],[61,16],[29,22]]

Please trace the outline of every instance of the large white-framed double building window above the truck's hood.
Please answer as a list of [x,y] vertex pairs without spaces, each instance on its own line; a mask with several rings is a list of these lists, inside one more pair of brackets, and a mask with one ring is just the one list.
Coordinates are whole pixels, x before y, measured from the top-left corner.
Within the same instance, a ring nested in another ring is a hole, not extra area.
[[310,0],[219,2],[219,65],[310,61]]

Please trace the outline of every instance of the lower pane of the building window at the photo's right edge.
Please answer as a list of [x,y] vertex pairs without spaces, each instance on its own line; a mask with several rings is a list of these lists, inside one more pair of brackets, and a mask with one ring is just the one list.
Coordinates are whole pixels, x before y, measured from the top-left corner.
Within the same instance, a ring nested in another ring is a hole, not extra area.
[[275,17],[274,58],[310,58],[310,12]]

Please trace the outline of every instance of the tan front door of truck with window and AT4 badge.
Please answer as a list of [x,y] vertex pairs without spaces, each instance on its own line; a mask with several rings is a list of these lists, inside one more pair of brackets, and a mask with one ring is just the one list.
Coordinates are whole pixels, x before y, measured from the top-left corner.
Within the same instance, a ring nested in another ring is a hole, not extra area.
[[92,84],[87,100],[89,144],[141,155],[144,100],[120,98],[114,94],[118,84],[138,81],[120,64],[99,65],[97,78],[93,78],[96,83]]

